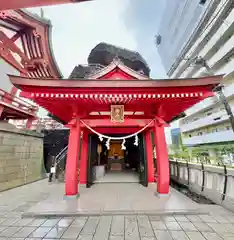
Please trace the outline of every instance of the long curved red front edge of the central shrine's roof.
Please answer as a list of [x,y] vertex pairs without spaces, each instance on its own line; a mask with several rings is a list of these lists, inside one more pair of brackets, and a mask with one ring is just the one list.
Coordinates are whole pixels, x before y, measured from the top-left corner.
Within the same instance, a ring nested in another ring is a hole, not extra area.
[[113,87],[196,87],[209,86],[211,90],[220,84],[223,75],[209,76],[197,79],[164,79],[164,80],[62,80],[62,79],[34,79],[8,75],[13,85],[57,88],[113,88]]

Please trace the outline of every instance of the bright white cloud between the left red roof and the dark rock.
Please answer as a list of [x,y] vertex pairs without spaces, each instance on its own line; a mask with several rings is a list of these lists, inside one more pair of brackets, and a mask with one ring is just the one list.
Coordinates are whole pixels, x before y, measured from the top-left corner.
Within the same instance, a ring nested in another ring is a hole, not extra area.
[[[102,0],[45,7],[53,25],[53,49],[65,77],[79,63],[86,63],[93,47],[108,42],[136,50],[136,40],[123,20],[128,0]],[[39,13],[39,8],[30,9]]]

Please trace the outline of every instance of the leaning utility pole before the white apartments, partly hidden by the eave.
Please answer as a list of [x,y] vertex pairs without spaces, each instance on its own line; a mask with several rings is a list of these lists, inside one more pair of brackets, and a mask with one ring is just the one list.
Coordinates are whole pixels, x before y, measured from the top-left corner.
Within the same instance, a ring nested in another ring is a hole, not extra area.
[[[214,75],[214,72],[211,70],[211,68],[209,67],[209,65],[207,64],[206,59],[204,59],[203,57],[196,57],[193,59],[193,63],[195,66],[202,66],[206,69],[206,71],[210,74],[210,75]],[[219,85],[217,86],[215,89],[215,92],[217,92],[218,97],[219,97],[219,101],[224,105],[224,108],[227,112],[227,115],[229,117],[230,123],[231,123],[231,127],[232,127],[232,131],[234,132],[234,116],[232,113],[232,109],[228,103],[228,100],[226,98],[226,96],[223,93],[223,85]]]

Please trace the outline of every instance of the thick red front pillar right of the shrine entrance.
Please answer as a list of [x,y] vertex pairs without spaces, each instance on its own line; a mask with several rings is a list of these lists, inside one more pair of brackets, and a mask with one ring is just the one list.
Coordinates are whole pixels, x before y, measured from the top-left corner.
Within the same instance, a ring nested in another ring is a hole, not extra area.
[[157,192],[159,194],[168,194],[170,181],[168,150],[164,132],[164,124],[160,123],[158,120],[155,120],[154,133],[158,172]]

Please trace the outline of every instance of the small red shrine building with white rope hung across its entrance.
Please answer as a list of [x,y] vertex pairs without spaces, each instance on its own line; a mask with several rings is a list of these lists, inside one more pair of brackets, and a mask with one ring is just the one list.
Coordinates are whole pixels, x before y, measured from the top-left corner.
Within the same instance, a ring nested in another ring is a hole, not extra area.
[[168,194],[164,128],[187,108],[213,96],[222,76],[156,80],[148,75],[147,65],[133,69],[119,57],[83,78],[74,77],[74,72],[69,79],[9,75],[21,97],[45,108],[70,129],[67,197],[79,195],[79,184],[91,187],[94,171],[96,175],[135,172],[140,184],[156,181],[155,192]]

